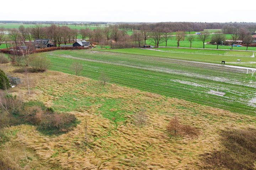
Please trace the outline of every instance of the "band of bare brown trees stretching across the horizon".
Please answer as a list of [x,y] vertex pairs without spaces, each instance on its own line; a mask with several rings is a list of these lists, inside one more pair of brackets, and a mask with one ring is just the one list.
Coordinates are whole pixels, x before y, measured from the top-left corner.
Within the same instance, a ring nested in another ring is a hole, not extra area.
[[[210,40],[209,32],[203,31],[205,29],[219,29],[222,32],[214,34]],[[133,31],[132,35],[128,31]],[[146,42],[151,42],[155,46],[165,44],[170,39],[176,39],[177,47],[180,46],[180,41],[190,41],[190,47],[193,41],[197,38],[204,44],[208,41],[218,45],[225,41],[224,34],[231,34],[232,45],[238,40],[242,40],[247,46],[252,42],[251,32],[256,30],[255,23],[192,23],[192,22],[161,22],[161,23],[120,23],[116,25],[109,25],[108,27],[96,27],[95,29],[81,28],[71,29],[66,25],[51,24],[49,26],[42,26],[36,24],[33,27],[25,28],[21,25],[18,29],[7,29],[9,36],[4,36],[3,27],[0,28],[0,45],[4,42],[11,41],[15,46],[22,44],[32,39],[49,38],[53,41],[54,46],[61,44],[73,43],[77,39],[95,41],[103,45],[110,45],[111,47],[140,47]],[[186,35],[193,31],[200,31],[200,35]],[[173,35],[175,32],[175,36]],[[233,48],[233,47],[232,47]]]

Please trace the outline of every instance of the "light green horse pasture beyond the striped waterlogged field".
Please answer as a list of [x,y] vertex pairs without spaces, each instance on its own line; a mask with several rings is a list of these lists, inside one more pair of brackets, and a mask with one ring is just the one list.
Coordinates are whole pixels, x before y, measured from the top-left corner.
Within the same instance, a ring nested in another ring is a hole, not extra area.
[[[167,52],[155,51],[155,50],[165,50]],[[130,54],[130,55],[157,56],[157,57],[165,57],[165,58],[172,58],[172,59],[178,59],[178,60],[208,62],[208,63],[215,63],[215,64],[219,64],[221,61],[225,61],[226,65],[245,66],[245,67],[254,67],[254,68],[256,67],[256,58],[249,57],[250,55],[252,55],[252,52],[247,52],[247,51],[224,51],[224,50],[207,50],[207,49],[200,50],[200,49],[177,49],[177,48],[158,48],[155,50],[134,48],[134,49],[103,49],[102,51],[124,53],[124,54]],[[247,57],[244,57],[244,56],[247,56]],[[241,63],[237,63],[236,62],[237,59],[240,59]]]

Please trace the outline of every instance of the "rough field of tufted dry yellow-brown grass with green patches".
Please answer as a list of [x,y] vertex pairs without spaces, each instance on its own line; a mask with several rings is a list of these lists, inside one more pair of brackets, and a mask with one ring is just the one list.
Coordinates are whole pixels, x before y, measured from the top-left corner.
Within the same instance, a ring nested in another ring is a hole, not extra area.
[[[6,128],[0,163],[11,169],[201,170],[207,164],[204,155],[223,149],[221,131],[256,127],[254,116],[54,71],[28,74],[29,97],[25,75],[14,72],[17,67],[1,64],[0,69],[24,79],[10,93],[80,120],[73,131],[59,136],[43,135],[26,124]],[[146,115],[143,125],[137,124],[140,109]],[[181,124],[198,128],[199,135],[168,134],[166,126],[175,115]]]

